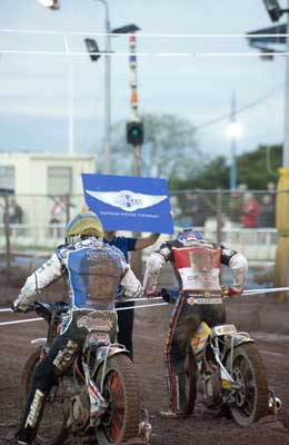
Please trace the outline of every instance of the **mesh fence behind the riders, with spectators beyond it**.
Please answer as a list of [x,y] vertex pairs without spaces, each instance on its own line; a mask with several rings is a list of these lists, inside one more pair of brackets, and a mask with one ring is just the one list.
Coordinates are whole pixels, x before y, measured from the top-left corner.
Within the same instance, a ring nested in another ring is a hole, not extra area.
[[[0,254],[7,265],[16,254],[43,255],[62,244],[64,226],[82,202],[82,196],[72,195],[0,195]],[[170,194],[170,202],[176,231],[193,226],[248,259],[275,259],[273,191],[181,190]]]

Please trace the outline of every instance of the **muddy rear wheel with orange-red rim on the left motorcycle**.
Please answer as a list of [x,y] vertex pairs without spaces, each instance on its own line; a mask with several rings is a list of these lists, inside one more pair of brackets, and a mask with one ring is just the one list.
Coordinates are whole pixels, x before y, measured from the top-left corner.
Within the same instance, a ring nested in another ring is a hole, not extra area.
[[96,429],[98,445],[112,445],[137,437],[140,421],[140,386],[133,363],[124,354],[117,354],[100,366],[94,379],[100,387],[108,409]]

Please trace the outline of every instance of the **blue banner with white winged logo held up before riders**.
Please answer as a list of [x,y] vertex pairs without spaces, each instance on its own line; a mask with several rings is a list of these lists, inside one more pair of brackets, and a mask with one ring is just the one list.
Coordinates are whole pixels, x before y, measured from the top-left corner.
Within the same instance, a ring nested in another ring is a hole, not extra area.
[[99,216],[104,230],[173,233],[166,179],[81,176],[86,202]]

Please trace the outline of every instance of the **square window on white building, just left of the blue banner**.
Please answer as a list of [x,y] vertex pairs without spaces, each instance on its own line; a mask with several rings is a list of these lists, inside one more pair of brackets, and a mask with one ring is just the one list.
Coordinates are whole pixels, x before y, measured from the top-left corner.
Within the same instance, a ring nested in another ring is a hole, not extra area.
[[71,189],[71,167],[48,167],[48,195],[70,195]]

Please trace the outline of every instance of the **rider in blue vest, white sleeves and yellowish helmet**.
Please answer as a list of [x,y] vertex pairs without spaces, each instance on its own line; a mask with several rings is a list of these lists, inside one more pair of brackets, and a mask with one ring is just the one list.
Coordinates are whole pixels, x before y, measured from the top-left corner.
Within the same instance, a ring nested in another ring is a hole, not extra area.
[[101,240],[102,226],[92,211],[77,215],[67,227],[67,244],[57,248],[51,258],[28,277],[13,310],[26,310],[36,295],[64,277],[70,310],[49,354],[38,364],[32,378],[18,444],[31,444],[47,394],[59,376],[66,373],[82,348],[89,330],[106,324],[113,342],[117,333],[114,295],[121,285],[123,298],[140,295],[141,285],[126,263],[122,253]]

